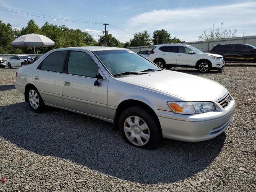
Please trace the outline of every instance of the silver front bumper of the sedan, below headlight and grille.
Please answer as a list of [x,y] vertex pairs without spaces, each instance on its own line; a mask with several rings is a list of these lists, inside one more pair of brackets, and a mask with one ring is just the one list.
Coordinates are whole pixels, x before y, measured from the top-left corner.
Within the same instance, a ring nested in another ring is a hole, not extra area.
[[[215,102],[216,111],[195,115],[177,115],[155,110],[164,138],[198,142],[212,139],[226,130],[234,114],[235,100],[226,108]],[[183,116],[183,117],[182,117]]]

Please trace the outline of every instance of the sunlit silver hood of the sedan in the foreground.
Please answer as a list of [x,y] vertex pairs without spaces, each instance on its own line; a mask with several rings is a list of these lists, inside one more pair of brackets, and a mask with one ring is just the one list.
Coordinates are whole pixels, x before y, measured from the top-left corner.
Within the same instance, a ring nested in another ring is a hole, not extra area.
[[166,92],[187,101],[216,102],[228,92],[218,82],[169,70],[142,75],[128,75],[120,77],[118,80]]

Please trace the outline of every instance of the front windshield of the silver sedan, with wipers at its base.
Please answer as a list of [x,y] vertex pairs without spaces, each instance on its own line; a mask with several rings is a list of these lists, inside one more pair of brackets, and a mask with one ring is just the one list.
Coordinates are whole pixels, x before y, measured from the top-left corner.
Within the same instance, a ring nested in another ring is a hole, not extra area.
[[[95,51],[102,63],[108,68],[112,75],[132,72],[161,70],[144,57],[131,50],[104,50]],[[150,69],[150,70],[149,70]],[[143,73],[140,73],[143,74]]]

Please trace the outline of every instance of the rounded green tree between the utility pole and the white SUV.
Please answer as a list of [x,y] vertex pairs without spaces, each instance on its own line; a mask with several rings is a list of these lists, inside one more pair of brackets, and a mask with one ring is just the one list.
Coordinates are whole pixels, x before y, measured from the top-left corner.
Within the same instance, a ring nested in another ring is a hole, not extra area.
[[150,45],[152,40],[148,31],[144,30],[134,34],[134,38],[130,41],[132,47]]

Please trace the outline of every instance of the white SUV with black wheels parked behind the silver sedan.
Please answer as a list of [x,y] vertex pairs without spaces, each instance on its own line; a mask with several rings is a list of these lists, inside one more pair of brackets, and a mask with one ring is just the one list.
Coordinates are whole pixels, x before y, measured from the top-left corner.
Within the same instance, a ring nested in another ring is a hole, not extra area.
[[211,69],[222,71],[225,63],[221,55],[204,53],[186,44],[156,45],[150,51],[148,59],[161,68],[191,67],[201,73],[207,73]]

